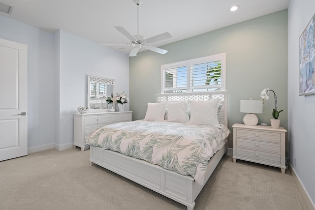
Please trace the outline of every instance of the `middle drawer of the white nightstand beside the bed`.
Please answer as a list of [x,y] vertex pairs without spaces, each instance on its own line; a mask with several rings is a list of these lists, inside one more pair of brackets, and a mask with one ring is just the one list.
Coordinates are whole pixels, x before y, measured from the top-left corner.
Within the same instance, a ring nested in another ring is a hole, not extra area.
[[278,143],[273,143],[273,142],[256,141],[256,140],[238,138],[236,144],[238,148],[269,151],[269,152],[275,152],[275,153],[281,152],[280,143],[278,144]]

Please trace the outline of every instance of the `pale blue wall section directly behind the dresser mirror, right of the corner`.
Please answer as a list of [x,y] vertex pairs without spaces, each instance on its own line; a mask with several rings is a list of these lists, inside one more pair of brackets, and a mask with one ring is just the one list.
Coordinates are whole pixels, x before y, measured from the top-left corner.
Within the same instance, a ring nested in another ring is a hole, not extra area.
[[115,92],[129,93],[129,57],[63,30],[59,31],[59,39],[59,136],[55,142],[59,143],[57,149],[63,150],[73,143],[73,113],[77,113],[78,106],[87,105],[88,75],[114,79]]

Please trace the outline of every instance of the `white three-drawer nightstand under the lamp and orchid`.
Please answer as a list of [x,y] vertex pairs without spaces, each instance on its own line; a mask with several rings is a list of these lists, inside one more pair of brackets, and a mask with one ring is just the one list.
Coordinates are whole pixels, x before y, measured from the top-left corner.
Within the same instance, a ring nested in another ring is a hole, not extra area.
[[285,173],[285,132],[283,127],[245,125],[233,127],[233,161],[237,159],[281,168]]

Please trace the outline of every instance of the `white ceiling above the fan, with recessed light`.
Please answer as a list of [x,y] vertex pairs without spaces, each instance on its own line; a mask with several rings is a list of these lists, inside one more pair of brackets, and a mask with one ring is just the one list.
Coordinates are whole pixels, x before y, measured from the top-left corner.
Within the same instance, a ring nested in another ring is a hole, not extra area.
[[[139,35],[163,32],[173,37],[151,45],[159,47],[211,30],[286,9],[290,0],[142,0]],[[137,35],[137,6],[133,0],[0,0],[13,6],[0,15],[55,32],[65,30],[97,43],[130,43],[114,29],[122,26]],[[240,8],[230,12],[231,5]],[[122,46],[111,46],[120,50]],[[129,54],[132,46],[120,50]],[[141,51],[139,51],[141,52]]]

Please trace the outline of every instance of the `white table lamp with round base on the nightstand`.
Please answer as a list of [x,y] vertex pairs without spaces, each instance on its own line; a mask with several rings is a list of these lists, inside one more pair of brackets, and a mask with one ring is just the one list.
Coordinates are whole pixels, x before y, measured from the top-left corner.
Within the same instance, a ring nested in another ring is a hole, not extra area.
[[247,113],[244,118],[244,124],[256,125],[258,118],[255,114],[262,113],[262,102],[260,100],[241,100],[241,112]]

